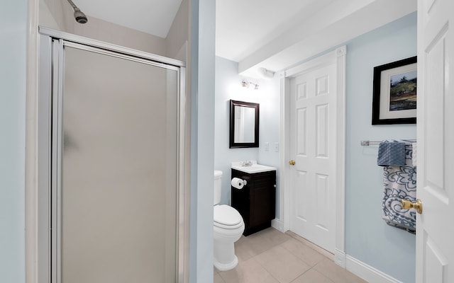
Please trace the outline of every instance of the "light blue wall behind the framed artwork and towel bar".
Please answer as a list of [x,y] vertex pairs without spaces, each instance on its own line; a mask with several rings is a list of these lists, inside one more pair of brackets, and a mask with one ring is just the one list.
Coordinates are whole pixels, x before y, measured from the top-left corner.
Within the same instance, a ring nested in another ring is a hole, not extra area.
[[416,55],[416,13],[347,46],[345,250],[402,282],[415,281],[415,236],[382,220],[377,146],[361,140],[416,139],[416,125],[372,126],[373,67]]

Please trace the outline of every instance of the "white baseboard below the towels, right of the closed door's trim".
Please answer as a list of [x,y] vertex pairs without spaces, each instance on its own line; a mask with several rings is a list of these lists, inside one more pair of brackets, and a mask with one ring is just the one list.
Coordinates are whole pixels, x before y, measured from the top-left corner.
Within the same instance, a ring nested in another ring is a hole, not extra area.
[[371,283],[402,283],[402,281],[399,281],[380,270],[376,270],[374,267],[367,265],[350,255],[345,255],[345,269]]

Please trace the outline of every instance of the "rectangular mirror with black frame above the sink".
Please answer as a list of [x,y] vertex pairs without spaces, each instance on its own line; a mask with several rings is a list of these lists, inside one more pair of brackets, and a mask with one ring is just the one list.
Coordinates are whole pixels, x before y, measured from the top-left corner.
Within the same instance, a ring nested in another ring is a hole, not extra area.
[[258,120],[258,103],[230,100],[229,147],[258,147]]

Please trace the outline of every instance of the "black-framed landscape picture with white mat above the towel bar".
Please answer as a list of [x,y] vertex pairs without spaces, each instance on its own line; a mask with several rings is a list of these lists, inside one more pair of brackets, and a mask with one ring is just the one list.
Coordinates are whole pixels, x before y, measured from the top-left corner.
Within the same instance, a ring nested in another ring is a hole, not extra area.
[[416,56],[374,67],[372,125],[416,124]]

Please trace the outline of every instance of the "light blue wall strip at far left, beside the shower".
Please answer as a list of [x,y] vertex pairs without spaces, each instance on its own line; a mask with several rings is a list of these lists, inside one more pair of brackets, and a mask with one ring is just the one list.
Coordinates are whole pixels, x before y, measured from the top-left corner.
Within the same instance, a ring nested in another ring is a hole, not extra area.
[[0,282],[25,282],[27,1],[0,4]]

